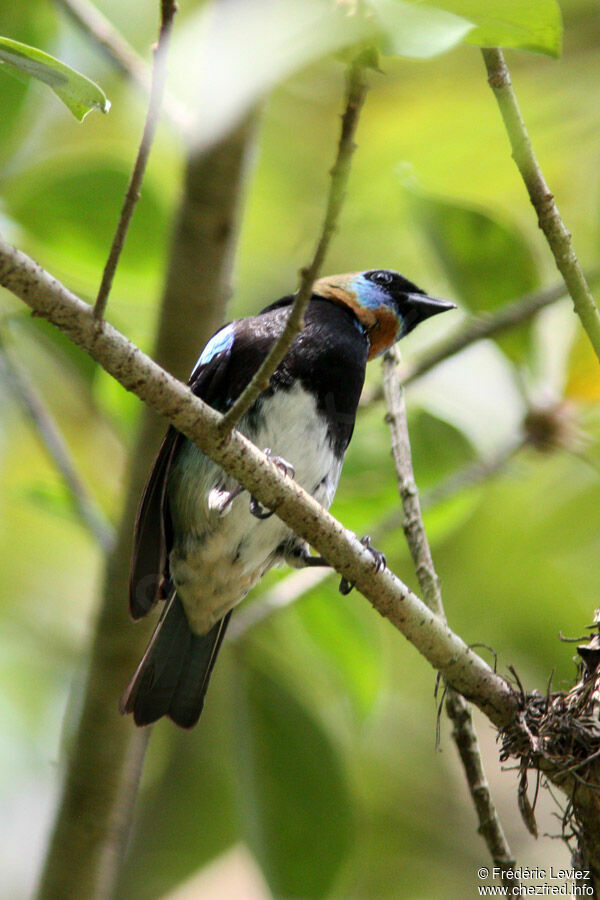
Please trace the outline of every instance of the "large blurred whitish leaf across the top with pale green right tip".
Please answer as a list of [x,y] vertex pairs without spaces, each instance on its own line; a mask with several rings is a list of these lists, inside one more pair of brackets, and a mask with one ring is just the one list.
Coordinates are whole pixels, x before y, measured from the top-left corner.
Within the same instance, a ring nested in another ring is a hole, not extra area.
[[372,0],[364,11],[361,4],[330,0],[203,4],[174,36],[171,87],[197,111],[199,142],[210,143],[275,84],[329,54],[368,42],[397,55],[431,57],[472,27],[405,0]]

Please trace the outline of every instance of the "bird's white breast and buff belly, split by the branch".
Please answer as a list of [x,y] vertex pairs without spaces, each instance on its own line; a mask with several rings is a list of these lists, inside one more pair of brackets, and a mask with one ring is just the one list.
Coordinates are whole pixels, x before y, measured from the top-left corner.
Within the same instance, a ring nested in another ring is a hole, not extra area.
[[[257,447],[291,463],[295,479],[326,508],[335,495],[342,461],[334,456],[326,423],[299,382],[264,400],[260,413],[239,430]],[[235,481],[189,445],[169,485],[175,525],[171,575],[194,631],[205,633],[242,600],[261,576],[281,561],[277,548],[290,531],[276,516],[260,520],[240,494],[222,517],[211,513],[208,494],[231,490]]]

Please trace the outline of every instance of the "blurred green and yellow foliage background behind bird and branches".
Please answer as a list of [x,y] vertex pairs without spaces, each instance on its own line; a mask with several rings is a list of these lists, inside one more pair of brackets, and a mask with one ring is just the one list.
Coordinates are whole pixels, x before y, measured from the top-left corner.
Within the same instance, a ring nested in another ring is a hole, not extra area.
[[[156,4],[98,6],[149,58]],[[593,275],[600,10],[596,0],[562,0],[560,7],[562,57],[515,51],[508,62],[543,171]],[[192,94],[183,37],[196,10],[182,0],[176,39],[183,49],[170,63],[173,84]],[[296,46],[293,63],[256,76],[266,52],[260,34],[271,27],[265,18],[245,40],[233,27],[221,35],[214,52],[221,60],[236,54],[237,78],[246,73],[250,96],[240,99],[232,80],[222,103],[208,94],[198,113],[198,140],[208,140],[215,121],[226,130],[256,99],[263,75],[275,82],[260,112],[231,316],[295,288],[318,234],[342,108],[343,63],[321,56],[308,39],[305,52]],[[50,2],[3,5],[0,33],[84,71],[112,101],[108,116],[93,113],[80,125],[44,86],[0,72],[2,231],[91,300],[141,134],[143,97]],[[410,361],[470,313],[558,278],[477,48],[463,44],[428,60],[384,56],[369,77],[326,271],[395,268],[459,304],[453,319],[432,320],[403,342]],[[183,161],[177,131],[165,121],[110,301],[110,320],[146,350]],[[139,402],[6,292],[0,316],[3,342],[116,523]],[[368,396],[380,379],[376,362]],[[573,682],[573,646],[559,632],[582,634],[598,604],[599,394],[597,362],[568,299],[527,327],[448,360],[407,391],[425,492],[477,461],[502,457],[522,440],[531,408],[550,411],[554,422],[558,410],[558,441],[524,446],[493,477],[459,482],[442,500],[434,495],[426,515],[452,627],[468,643],[492,648],[500,671],[514,666],[528,689],[545,691],[552,672],[556,688]],[[17,900],[29,896],[43,859],[81,699],[103,554],[5,380],[0,406],[0,868],[3,894]],[[361,411],[333,512],[358,534],[376,532],[388,564],[414,587],[394,519],[398,496],[383,417],[381,402]],[[287,574],[271,573],[246,603],[260,604]],[[335,577],[249,628],[224,647],[199,727],[183,734],[162,721],[154,729],[119,896],[475,896],[486,850],[443,715],[436,745],[434,688],[425,661],[363,597],[342,598]],[[495,734],[478,721],[519,862],[567,864],[560,841],[528,835],[515,773],[501,771]],[[540,834],[558,835],[560,816],[560,803],[540,796]]]

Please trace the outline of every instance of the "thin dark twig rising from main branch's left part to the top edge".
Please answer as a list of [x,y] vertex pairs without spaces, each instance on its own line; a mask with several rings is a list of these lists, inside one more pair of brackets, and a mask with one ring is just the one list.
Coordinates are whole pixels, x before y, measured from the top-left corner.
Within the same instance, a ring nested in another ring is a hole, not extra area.
[[108,295],[110,294],[113,278],[123,250],[133,211],[140,197],[140,188],[142,186],[148,157],[150,156],[150,149],[160,117],[160,107],[167,77],[167,47],[177,6],[174,0],[161,0],[160,8],[160,31],[158,34],[158,41],[154,48],[152,87],[150,88],[150,100],[148,102],[144,133],[142,135],[133,172],[131,173],[129,186],[125,193],[125,200],[123,202],[117,230],[115,231],[110,253],[108,254],[108,259],[102,274],[102,281],[100,282],[96,303],[94,304],[94,316],[97,320],[103,318],[104,311],[106,310]]

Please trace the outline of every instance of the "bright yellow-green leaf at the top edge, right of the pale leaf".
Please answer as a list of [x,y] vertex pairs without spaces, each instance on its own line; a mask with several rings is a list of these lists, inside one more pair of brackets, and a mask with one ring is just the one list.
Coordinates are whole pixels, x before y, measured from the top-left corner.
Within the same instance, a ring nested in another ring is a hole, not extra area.
[[479,47],[514,47],[560,56],[562,19],[556,0],[436,0],[475,28],[465,40]]

